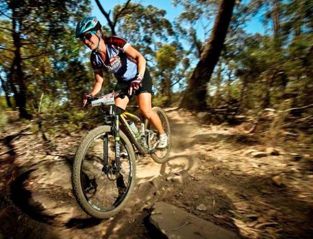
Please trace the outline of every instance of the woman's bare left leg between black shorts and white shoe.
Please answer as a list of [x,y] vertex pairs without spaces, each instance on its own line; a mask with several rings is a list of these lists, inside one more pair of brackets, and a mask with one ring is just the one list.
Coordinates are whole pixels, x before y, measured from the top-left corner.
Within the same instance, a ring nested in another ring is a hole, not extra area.
[[143,116],[145,116],[158,130],[159,134],[164,133],[161,119],[159,115],[152,110],[151,106],[151,93],[145,92],[137,95],[137,102],[139,109]]

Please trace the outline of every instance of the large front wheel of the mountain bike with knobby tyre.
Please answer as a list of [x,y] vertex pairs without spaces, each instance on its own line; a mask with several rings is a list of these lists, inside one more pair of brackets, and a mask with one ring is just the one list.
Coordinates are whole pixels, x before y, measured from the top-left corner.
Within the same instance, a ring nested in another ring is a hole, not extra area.
[[[108,165],[104,165],[104,158]],[[79,145],[73,162],[74,195],[89,215],[109,218],[125,205],[135,183],[133,147],[120,131],[120,170],[115,170],[115,137],[111,126],[91,130]]]

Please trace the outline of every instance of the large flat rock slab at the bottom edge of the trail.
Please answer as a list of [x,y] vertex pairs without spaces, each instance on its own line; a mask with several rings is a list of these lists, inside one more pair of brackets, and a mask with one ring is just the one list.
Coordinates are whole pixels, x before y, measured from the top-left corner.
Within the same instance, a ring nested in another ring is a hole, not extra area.
[[165,202],[156,202],[149,222],[163,235],[174,238],[240,238],[235,232],[201,219]]

